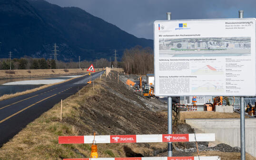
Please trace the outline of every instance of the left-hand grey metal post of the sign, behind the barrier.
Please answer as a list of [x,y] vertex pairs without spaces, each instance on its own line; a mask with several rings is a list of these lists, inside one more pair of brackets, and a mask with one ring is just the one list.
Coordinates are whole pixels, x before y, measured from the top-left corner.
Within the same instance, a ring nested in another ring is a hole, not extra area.
[[[167,20],[171,20],[171,12],[167,12]],[[167,124],[168,124],[168,134],[172,134],[172,97],[167,97]],[[172,157],[172,142],[168,142],[168,157]]]

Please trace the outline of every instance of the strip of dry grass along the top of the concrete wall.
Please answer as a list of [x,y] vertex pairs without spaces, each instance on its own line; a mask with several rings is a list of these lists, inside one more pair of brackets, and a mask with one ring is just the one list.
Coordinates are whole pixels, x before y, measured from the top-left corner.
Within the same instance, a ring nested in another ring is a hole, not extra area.
[[240,118],[240,114],[219,112],[180,112],[180,121],[185,122],[186,118]]

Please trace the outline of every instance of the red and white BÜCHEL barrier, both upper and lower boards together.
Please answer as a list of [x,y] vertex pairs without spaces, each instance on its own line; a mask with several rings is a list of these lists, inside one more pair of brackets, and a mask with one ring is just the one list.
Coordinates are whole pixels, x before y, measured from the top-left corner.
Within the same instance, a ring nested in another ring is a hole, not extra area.
[[[137,135],[97,135],[97,136],[59,136],[59,144],[78,143],[149,143],[181,141],[215,141],[214,133],[197,134],[137,134]],[[94,158],[76,158],[63,160],[96,160]],[[197,157],[128,157],[97,158],[97,160],[220,160],[218,156]]]

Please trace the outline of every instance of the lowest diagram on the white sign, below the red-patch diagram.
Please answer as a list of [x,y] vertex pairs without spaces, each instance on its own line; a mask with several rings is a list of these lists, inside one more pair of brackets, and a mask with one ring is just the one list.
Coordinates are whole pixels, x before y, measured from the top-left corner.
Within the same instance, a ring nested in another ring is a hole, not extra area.
[[224,85],[221,81],[214,80],[210,82],[205,81],[195,81],[192,82],[192,92],[193,93],[222,93],[225,92]]

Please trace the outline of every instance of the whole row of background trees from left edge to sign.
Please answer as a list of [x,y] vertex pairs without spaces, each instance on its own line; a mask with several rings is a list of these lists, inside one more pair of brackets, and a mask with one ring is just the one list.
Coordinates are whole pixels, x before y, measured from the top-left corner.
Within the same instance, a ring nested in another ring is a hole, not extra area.
[[69,69],[69,68],[88,68],[91,64],[95,68],[103,67],[123,67],[124,71],[129,74],[145,75],[147,73],[154,73],[154,55],[150,47],[143,48],[136,46],[126,49],[122,56],[122,61],[115,64],[105,58],[96,59],[94,61],[79,62],[62,62],[53,59],[45,58],[14,58],[0,59],[0,69]]

